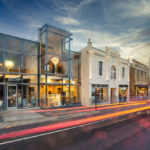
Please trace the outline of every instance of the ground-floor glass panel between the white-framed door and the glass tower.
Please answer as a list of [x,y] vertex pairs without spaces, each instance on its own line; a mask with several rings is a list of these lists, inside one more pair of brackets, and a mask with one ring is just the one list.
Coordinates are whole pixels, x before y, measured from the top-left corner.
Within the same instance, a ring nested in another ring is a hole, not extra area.
[[37,105],[37,86],[23,85],[23,106],[35,107]]

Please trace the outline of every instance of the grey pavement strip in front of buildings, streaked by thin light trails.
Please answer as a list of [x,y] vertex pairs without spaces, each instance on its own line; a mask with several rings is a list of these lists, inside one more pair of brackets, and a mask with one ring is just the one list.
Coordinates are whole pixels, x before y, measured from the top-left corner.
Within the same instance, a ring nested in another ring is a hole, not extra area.
[[85,118],[96,115],[111,114],[117,111],[130,110],[149,106],[149,103],[132,102],[129,104],[113,104],[102,105],[95,110],[95,107],[72,107],[60,109],[15,109],[0,112],[0,129],[11,128],[14,126],[29,125],[34,123],[42,123],[46,121],[61,122],[64,120]]

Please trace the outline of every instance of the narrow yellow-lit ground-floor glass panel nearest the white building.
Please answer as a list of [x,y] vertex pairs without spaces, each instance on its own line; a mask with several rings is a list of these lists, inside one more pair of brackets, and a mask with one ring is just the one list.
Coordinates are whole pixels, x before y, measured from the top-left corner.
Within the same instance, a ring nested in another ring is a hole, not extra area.
[[77,86],[70,86],[71,103],[78,103],[78,88]]

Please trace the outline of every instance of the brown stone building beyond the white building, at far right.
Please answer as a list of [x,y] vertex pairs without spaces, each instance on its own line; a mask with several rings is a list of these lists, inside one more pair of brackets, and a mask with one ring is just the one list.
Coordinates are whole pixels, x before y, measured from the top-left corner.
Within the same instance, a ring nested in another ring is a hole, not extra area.
[[139,99],[148,96],[148,66],[136,60],[130,66],[130,95]]

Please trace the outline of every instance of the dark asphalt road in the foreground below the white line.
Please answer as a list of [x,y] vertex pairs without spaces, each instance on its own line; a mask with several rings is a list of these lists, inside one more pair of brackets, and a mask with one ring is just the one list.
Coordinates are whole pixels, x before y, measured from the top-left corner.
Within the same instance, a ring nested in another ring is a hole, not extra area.
[[149,116],[103,128],[98,128],[99,123],[17,139],[0,145],[0,150],[149,150],[148,146],[144,149],[150,139]]

